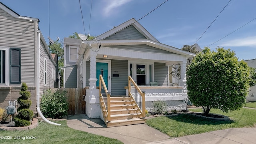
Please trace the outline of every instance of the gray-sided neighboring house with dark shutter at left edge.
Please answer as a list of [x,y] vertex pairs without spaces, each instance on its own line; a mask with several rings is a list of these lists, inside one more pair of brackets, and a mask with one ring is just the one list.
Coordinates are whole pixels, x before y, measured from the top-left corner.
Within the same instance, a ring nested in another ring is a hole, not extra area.
[[58,87],[58,65],[39,30],[39,20],[20,16],[0,2],[0,107],[20,97],[23,82],[33,112],[44,88]]

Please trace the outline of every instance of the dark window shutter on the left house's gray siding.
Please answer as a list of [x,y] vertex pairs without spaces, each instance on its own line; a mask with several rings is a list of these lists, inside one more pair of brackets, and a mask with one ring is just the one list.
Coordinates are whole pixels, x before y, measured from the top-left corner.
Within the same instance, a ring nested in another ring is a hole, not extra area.
[[10,48],[10,84],[21,83],[20,49]]

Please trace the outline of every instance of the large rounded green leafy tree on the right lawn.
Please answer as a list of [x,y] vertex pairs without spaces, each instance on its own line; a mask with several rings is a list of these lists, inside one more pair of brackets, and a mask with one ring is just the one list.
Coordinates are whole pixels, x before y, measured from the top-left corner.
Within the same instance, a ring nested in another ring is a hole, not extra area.
[[229,112],[246,102],[250,69],[230,49],[204,48],[193,58],[186,76],[188,97],[195,106],[202,106],[206,116],[211,108]]

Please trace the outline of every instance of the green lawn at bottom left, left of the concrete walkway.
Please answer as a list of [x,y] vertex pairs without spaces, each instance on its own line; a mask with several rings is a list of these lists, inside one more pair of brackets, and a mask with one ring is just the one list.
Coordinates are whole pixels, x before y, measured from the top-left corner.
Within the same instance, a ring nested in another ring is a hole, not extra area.
[[[0,131],[0,136],[12,136],[12,140],[0,139],[0,144],[122,144],[121,141],[74,130],[67,126],[67,121],[58,121],[61,126],[39,122],[38,127],[24,131]],[[23,139],[17,139],[25,137]],[[35,140],[26,136],[37,137]],[[14,140],[16,137],[16,140]]]

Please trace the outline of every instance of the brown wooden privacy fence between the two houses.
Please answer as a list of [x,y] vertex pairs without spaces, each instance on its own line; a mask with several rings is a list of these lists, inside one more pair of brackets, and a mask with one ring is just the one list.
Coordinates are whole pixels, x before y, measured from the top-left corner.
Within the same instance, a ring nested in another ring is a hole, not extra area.
[[51,90],[54,92],[57,90],[67,92],[68,115],[85,114],[85,88],[51,88]]

